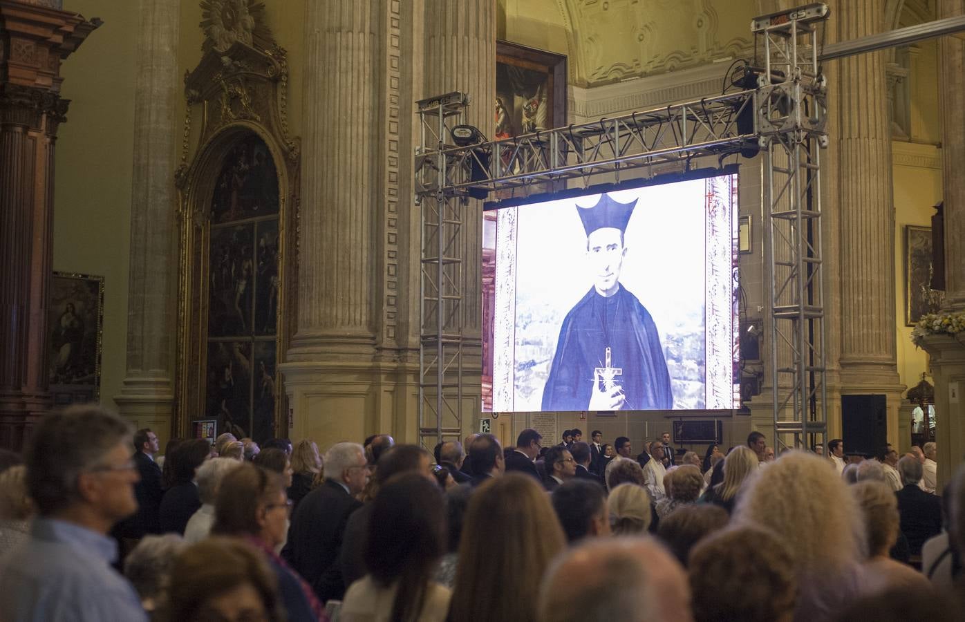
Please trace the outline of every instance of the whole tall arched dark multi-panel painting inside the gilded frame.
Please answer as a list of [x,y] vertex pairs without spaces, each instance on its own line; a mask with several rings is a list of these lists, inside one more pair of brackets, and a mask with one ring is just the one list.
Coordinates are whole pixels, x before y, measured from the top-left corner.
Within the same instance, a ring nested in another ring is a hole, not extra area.
[[267,146],[246,136],[225,155],[208,234],[207,392],[199,418],[259,442],[272,436],[276,417],[278,188]]

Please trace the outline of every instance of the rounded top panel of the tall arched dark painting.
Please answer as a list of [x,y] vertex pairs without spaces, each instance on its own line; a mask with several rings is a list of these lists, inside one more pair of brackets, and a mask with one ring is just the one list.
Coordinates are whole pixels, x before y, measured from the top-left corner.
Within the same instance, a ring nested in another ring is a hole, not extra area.
[[278,172],[268,147],[252,134],[225,157],[211,200],[211,223],[278,213]]

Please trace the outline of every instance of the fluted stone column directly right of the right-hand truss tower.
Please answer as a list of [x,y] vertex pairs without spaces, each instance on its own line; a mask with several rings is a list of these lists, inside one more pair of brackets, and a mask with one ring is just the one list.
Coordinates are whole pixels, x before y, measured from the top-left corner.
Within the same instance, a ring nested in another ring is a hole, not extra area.
[[[828,28],[836,41],[884,29],[885,0],[832,4]],[[843,58],[834,64],[830,86],[833,143],[831,203],[838,214],[837,238],[841,321],[829,325],[840,347],[840,386],[829,387],[829,434],[840,429],[838,395],[884,393],[889,442],[897,445],[901,392],[896,366],[895,215],[891,128],[884,51]],[[834,223],[832,223],[834,224]],[[828,272],[825,272],[828,275]],[[834,362],[829,362],[833,366]]]

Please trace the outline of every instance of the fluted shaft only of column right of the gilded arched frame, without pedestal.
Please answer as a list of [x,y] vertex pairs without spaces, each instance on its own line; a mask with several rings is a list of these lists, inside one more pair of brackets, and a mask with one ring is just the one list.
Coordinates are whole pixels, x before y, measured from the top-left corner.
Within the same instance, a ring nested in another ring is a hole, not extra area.
[[306,3],[301,286],[290,361],[373,352],[382,5]]

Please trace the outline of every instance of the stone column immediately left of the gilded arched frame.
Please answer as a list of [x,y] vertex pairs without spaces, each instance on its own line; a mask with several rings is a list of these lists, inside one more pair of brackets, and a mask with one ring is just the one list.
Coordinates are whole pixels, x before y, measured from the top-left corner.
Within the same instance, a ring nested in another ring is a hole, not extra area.
[[152,427],[164,442],[174,404],[172,352],[175,277],[174,131],[179,0],[142,0],[134,92],[130,276],[127,292],[127,374],[114,397],[121,415]]

